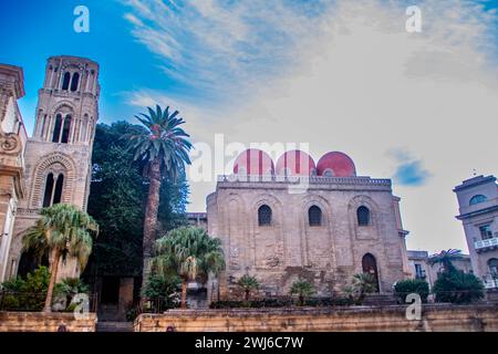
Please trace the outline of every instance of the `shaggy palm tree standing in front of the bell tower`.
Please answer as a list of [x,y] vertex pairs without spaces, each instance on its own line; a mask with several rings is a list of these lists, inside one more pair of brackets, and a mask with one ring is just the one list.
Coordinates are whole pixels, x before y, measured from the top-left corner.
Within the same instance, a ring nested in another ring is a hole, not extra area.
[[39,257],[50,253],[50,283],[43,311],[52,311],[53,288],[58,277],[59,262],[76,258],[83,270],[92,252],[92,233],[98,235],[98,225],[86,212],[75,206],[58,204],[40,210],[41,218],[22,239],[25,250]]

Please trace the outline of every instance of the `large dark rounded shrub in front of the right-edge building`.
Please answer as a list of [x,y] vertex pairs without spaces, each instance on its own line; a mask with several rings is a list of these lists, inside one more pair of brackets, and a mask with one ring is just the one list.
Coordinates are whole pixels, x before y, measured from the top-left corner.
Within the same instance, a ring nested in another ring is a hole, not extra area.
[[434,283],[436,302],[471,303],[484,298],[483,282],[455,267],[446,268]]

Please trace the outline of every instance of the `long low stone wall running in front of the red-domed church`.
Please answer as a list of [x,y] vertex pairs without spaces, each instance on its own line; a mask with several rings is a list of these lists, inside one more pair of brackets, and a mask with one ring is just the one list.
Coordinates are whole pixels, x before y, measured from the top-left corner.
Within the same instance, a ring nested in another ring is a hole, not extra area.
[[271,310],[175,310],[142,314],[136,332],[497,332],[498,306],[425,305],[421,321],[406,306]]

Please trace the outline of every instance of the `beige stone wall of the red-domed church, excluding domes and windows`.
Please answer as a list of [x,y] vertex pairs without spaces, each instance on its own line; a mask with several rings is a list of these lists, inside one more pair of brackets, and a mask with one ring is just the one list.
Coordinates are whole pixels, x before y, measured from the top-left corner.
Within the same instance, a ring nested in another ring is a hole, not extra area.
[[[365,177],[315,178],[304,192],[290,192],[286,181],[219,181],[207,198],[208,232],[222,241],[227,270],[220,295],[237,296],[235,282],[256,275],[266,295],[284,295],[303,277],[318,295],[341,292],[353,274],[363,271],[362,258],[372,253],[382,292],[407,277],[404,233],[397,198],[390,180]],[[258,225],[258,208],[272,209],[272,225]],[[322,225],[310,227],[308,209],[322,210]],[[371,223],[356,221],[356,209],[371,210]]]

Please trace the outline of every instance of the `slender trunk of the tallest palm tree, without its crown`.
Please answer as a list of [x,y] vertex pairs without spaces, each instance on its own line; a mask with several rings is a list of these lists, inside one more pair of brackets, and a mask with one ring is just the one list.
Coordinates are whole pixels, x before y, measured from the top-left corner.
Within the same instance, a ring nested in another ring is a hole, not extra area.
[[148,274],[151,272],[149,261],[153,253],[154,241],[157,231],[157,210],[159,209],[159,189],[160,189],[160,162],[155,159],[151,164],[148,171],[149,185],[147,206],[145,208],[144,218],[144,239],[143,239],[143,256],[144,268],[142,271],[142,289],[145,289]]

